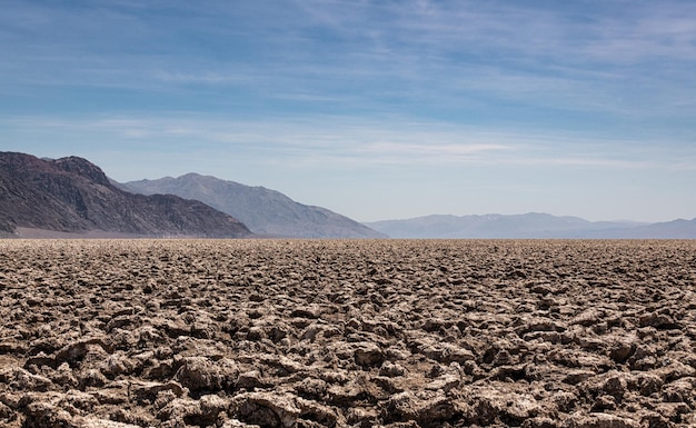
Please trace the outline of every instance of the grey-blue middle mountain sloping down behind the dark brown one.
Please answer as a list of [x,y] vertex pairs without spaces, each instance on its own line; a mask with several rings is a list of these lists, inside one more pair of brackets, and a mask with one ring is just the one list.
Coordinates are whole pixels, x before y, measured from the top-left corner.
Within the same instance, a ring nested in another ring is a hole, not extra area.
[[240,219],[255,233],[294,238],[386,238],[326,208],[306,206],[276,190],[250,187],[210,176],[130,181],[123,188],[143,193],[171,193],[200,200]]

